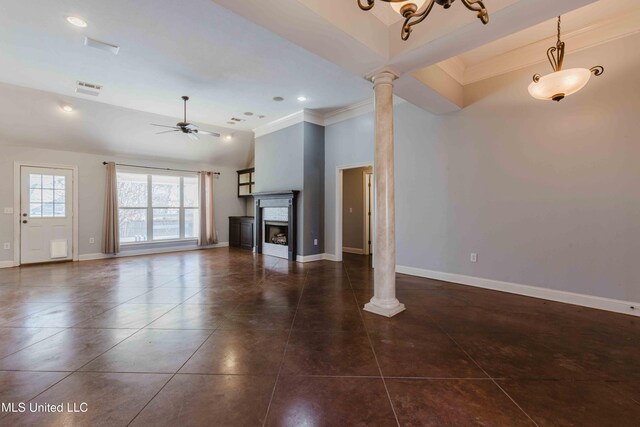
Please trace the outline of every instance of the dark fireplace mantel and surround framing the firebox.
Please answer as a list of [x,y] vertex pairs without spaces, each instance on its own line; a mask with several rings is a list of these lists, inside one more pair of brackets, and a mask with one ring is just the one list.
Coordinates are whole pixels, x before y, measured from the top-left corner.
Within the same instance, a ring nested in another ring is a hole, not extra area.
[[299,191],[285,190],[285,191],[267,191],[261,193],[253,193],[252,196],[256,203],[256,252],[261,254],[264,243],[263,236],[263,212],[264,208],[288,208],[288,259],[289,261],[295,261],[297,250],[297,208],[296,202]]

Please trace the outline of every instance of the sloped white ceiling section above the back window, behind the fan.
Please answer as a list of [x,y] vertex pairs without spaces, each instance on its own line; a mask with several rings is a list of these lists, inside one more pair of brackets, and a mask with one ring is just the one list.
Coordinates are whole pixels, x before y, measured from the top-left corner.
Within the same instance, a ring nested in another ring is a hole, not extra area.
[[[62,106],[73,103],[75,111]],[[156,135],[150,123],[175,119],[85,99],[74,99],[0,83],[0,146],[22,145],[97,154],[126,154],[242,167],[252,156],[253,132],[234,131],[232,141],[201,135],[192,141],[176,132]],[[201,130],[228,129],[197,123]]]

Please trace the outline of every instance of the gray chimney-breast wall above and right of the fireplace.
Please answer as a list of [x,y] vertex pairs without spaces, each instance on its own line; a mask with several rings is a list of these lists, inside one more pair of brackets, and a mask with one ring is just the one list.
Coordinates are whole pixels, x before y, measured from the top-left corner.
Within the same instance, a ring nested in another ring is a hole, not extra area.
[[256,192],[300,191],[298,255],[323,253],[324,127],[303,122],[256,138],[255,167]]

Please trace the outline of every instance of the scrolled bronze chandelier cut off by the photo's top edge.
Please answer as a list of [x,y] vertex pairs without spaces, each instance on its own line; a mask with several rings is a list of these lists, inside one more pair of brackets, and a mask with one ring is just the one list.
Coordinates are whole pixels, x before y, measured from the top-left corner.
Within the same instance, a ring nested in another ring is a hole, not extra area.
[[[451,7],[451,3],[456,0],[380,0],[391,3],[393,10],[404,17],[404,25],[402,26],[402,40],[407,40],[413,31],[413,26],[421,23],[433,9],[434,3],[438,3],[445,9]],[[425,3],[429,2],[427,6]],[[478,13],[478,18],[483,24],[489,22],[489,13],[485,9],[481,0],[461,0],[467,9]],[[362,10],[371,10],[375,6],[376,0],[358,0],[358,6]],[[424,7],[423,7],[424,6]]]

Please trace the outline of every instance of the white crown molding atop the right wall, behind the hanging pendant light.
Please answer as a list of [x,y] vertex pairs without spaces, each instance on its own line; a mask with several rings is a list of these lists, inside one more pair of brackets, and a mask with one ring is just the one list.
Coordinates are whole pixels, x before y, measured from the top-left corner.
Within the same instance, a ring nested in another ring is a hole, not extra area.
[[[563,36],[563,41],[566,42],[567,53],[570,54],[639,32],[640,9],[567,33]],[[555,45],[555,42],[555,36],[547,37],[469,66],[465,66],[459,57],[449,58],[437,65],[458,83],[466,86],[536,64],[546,63],[545,52],[549,46]]]

